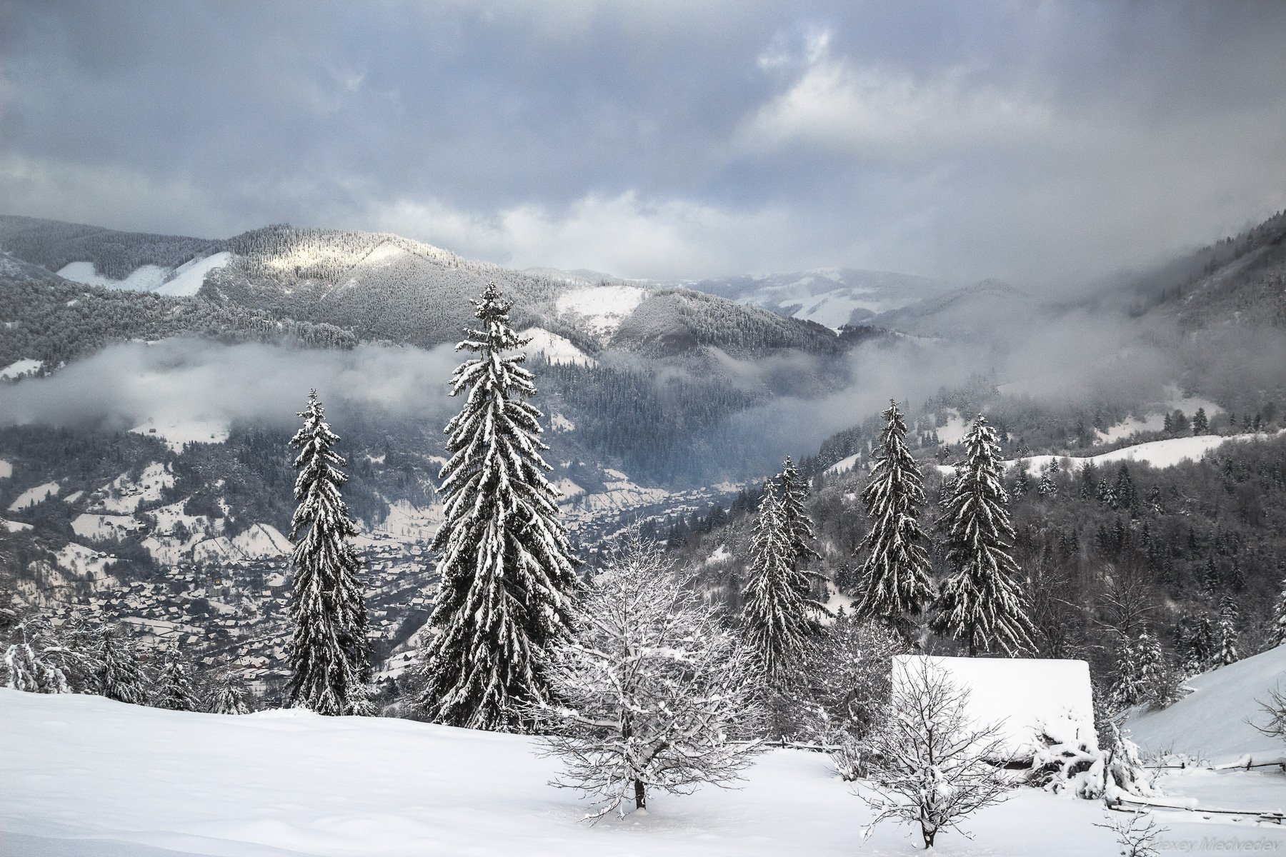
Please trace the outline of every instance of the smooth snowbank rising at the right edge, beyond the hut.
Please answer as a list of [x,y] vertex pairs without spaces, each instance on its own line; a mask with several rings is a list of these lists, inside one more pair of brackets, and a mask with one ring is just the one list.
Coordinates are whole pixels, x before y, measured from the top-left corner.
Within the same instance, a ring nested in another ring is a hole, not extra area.
[[1286,758],[1286,744],[1251,726],[1267,718],[1256,700],[1267,699],[1278,684],[1286,690],[1286,646],[1202,673],[1187,684],[1193,693],[1169,708],[1130,717],[1134,743],[1151,753],[1183,753],[1214,764],[1246,754],[1263,761]]

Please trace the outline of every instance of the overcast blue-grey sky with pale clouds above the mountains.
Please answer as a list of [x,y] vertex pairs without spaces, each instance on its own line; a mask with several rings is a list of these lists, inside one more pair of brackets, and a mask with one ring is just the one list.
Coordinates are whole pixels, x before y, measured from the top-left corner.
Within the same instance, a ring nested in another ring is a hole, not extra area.
[[1286,3],[0,0],[0,212],[1071,283],[1286,207]]

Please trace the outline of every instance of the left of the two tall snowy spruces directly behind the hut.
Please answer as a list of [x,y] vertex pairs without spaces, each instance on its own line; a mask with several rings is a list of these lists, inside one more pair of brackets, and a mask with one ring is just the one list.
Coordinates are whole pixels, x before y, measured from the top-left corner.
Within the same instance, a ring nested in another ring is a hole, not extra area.
[[907,448],[907,424],[896,402],[889,401],[883,419],[876,466],[862,491],[871,532],[863,542],[862,601],[855,613],[909,640],[914,617],[934,599],[932,569],[919,528],[925,488]]

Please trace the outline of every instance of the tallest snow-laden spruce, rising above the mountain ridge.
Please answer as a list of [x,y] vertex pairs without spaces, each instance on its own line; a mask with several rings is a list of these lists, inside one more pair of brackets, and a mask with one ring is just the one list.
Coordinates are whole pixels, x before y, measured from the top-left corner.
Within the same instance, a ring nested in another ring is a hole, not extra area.
[[446,425],[444,522],[433,538],[441,579],[423,654],[418,708],[450,726],[513,730],[518,704],[548,699],[548,649],[570,631],[576,578],[558,491],[545,478],[540,411],[526,344],[491,283],[475,301],[478,329],[457,349],[477,356],[451,375],[468,392]]

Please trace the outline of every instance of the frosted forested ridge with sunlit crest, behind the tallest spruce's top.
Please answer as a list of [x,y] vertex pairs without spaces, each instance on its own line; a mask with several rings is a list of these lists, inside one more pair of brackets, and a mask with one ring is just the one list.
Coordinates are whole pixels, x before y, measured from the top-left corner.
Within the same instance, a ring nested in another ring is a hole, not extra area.
[[[334,325],[359,340],[421,347],[455,342],[468,324],[469,299],[494,280],[513,299],[518,329],[543,328],[590,355],[602,342],[595,319],[576,311],[594,303],[599,284],[477,262],[386,233],[274,225],[208,240],[0,216],[0,249],[51,272],[89,263],[94,276],[116,288],[130,288],[127,278],[145,266],[154,266],[156,283],[162,283],[183,265],[212,260],[217,263],[204,271],[197,292],[204,301],[279,320]],[[706,346],[833,353],[845,343],[820,325],[727,298],[638,283],[630,288],[658,301],[622,307],[621,316],[642,315],[619,338],[608,337],[613,348],[673,357],[700,353]],[[625,326],[616,319],[608,334],[617,324]]]

